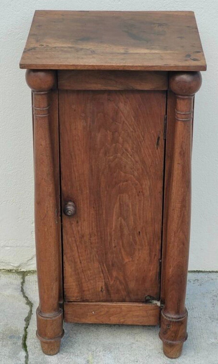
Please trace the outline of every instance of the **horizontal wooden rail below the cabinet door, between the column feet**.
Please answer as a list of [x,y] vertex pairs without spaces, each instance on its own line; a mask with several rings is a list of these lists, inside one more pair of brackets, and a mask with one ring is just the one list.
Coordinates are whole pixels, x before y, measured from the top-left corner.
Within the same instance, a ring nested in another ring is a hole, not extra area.
[[89,324],[158,325],[160,307],[136,302],[65,302],[64,321]]

